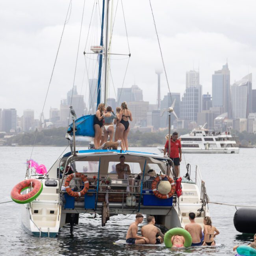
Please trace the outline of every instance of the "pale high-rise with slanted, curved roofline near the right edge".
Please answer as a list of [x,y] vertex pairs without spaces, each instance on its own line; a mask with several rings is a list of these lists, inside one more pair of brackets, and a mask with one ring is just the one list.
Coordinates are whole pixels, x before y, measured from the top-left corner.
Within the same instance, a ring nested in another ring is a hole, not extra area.
[[251,74],[235,82],[230,87],[232,117],[247,118],[252,112],[252,82]]

